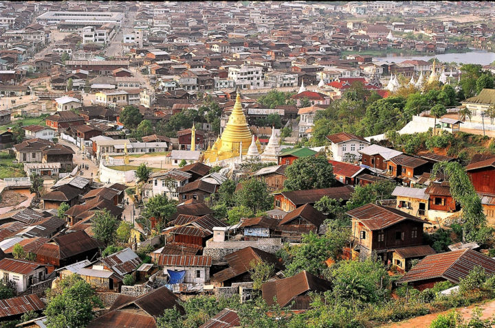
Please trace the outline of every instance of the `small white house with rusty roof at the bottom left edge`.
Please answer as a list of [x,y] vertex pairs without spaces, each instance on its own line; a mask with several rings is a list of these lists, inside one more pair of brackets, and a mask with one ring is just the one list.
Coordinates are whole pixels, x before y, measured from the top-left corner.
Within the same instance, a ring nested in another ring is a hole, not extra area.
[[46,273],[43,263],[8,258],[0,261],[0,279],[14,281],[17,292],[25,292],[30,285],[44,281]]

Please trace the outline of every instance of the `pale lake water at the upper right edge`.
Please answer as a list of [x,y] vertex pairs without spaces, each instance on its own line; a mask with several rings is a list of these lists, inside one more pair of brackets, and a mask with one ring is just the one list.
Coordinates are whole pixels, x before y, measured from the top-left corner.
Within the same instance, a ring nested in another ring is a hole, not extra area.
[[439,54],[434,56],[403,56],[388,54],[386,57],[377,57],[373,60],[386,60],[387,62],[402,62],[404,60],[426,60],[437,58],[441,62],[458,62],[463,64],[489,65],[495,60],[495,52],[474,50],[463,54]]

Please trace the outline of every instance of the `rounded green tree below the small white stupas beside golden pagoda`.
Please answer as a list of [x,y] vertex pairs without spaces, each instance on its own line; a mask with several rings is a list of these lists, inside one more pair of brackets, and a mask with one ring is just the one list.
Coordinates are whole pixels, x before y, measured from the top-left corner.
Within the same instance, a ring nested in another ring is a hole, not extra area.
[[273,208],[273,196],[270,196],[267,184],[256,178],[243,181],[234,198],[237,206],[248,207],[253,213]]

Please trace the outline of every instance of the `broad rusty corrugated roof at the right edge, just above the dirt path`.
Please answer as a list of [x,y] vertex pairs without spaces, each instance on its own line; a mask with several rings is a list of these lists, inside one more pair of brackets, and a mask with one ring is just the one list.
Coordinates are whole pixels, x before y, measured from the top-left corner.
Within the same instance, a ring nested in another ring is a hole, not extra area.
[[475,266],[481,266],[487,274],[495,274],[495,259],[472,249],[463,249],[428,255],[404,274],[399,282],[443,278],[459,283]]

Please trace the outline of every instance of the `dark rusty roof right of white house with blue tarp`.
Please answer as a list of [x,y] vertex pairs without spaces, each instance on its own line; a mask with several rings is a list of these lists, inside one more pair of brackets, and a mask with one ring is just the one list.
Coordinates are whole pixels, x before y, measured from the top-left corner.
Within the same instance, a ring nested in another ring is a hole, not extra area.
[[265,263],[273,264],[276,270],[284,269],[284,266],[278,257],[254,247],[236,250],[234,253],[225,255],[224,258],[227,261],[229,268],[213,274],[214,281],[223,282],[248,272],[251,269],[251,263],[253,261],[255,263],[263,261]]

